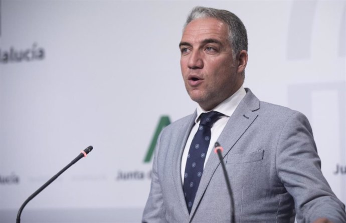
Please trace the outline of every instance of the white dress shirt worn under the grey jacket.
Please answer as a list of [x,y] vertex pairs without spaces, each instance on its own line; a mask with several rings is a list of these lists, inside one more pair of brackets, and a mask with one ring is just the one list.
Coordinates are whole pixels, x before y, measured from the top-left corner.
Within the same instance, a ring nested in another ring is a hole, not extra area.
[[[210,138],[210,144],[208,147],[206,159],[204,162],[204,167],[206,166],[207,160],[209,158],[209,155],[211,151],[213,150],[214,144],[216,140],[219,138],[222,130],[224,130],[227,121],[230,119],[230,116],[233,114],[235,109],[237,108],[238,104],[240,101],[243,99],[245,96],[246,91],[243,86],[241,86],[232,96],[228,97],[224,101],[222,101],[220,104],[218,104],[216,107],[214,107],[212,110],[218,111],[220,113],[223,113],[224,115],[221,116],[220,119],[218,119],[212,126],[211,128],[211,138]],[[190,145],[192,142],[193,137],[195,136],[197,129],[200,125],[200,115],[203,112],[208,112],[204,110],[200,105],[197,105],[197,117],[195,120],[195,125],[192,127],[190,135],[188,137],[188,140],[185,144],[184,152],[183,152],[183,157],[182,157],[182,180],[184,183],[184,174],[185,174],[185,166],[186,166],[186,160],[188,158],[188,153],[190,150]]]

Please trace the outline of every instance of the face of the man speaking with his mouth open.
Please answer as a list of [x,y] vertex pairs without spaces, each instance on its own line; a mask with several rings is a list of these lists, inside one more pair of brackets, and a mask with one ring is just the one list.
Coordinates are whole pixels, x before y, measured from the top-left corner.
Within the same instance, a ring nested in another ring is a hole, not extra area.
[[227,24],[215,18],[192,20],[185,28],[181,69],[192,100],[210,110],[231,96],[243,83],[233,62]]

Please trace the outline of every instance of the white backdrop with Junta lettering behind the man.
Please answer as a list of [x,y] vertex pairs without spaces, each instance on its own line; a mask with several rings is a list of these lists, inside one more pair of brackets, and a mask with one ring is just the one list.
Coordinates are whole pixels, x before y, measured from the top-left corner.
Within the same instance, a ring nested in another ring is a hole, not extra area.
[[196,106],[178,47],[195,5],[243,20],[244,86],[308,116],[322,171],[346,202],[345,0],[0,0],[0,222],[15,222],[22,202],[88,145],[22,221],[140,221],[159,118]]

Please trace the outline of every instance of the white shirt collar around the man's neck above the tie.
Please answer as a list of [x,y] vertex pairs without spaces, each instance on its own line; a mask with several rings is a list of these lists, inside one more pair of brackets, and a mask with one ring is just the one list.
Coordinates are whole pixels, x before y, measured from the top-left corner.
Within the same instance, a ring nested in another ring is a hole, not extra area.
[[[226,98],[220,104],[216,105],[212,110],[218,111],[220,113],[225,114],[225,116],[230,117],[235,109],[237,108],[240,101],[245,96],[246,91],[243,86],[241,86],[234,94]],[[197,117],[195,119],[195,123],[197,123],[200,119],[200,115],[204,112],[208,112],[204,110],[199,104],[197,105]]]

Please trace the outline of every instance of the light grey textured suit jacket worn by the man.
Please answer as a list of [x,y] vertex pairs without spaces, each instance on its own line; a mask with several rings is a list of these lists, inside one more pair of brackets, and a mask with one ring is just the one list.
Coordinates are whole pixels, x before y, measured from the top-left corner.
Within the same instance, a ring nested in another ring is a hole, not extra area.
[[[307,118],[260,101],[249,89],[218,142],[229,174],[236,222],[346,222],[344,205],[320,170]],[[207,160],[189,214],[181,158],[196,112],[164,128],[157,140],[142,222],[230,222],[231,201],[218,156]]]

